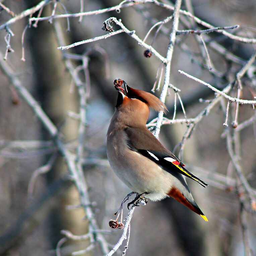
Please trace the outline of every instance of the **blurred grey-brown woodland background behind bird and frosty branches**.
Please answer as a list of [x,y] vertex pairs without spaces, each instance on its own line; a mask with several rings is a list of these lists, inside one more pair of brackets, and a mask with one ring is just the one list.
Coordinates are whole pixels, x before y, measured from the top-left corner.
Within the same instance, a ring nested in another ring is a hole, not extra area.
[[[79,13],[81,3],[84,12],[120,4],[116,0],[42,2],[46,3],[42,13],[39,8],[36,12],[30,11],[31,16],[50,16],[53,11],[55,14]],[[162,2],[170,6],[175,4],[175,1]],[[2,0],[0,3],[2,25],[12,18],[12,12],[18,15],[40,1]],[[123,5],[127,3],[131,2]],[[238,24],[239,28],[228,31],[241,37],[256,38],[254,0],[184,0],[181,9],[216,27]],[[145,58],[143,52],[146,49],[125,33],[66,51],[57,47],[107,35],[109,32],[102,30],[103,23],[112,16],[121,19],[143,40],[155,23],[172,14],[171,10],[152,3],[123,7],[119,13],[114,8],[82,19],[54,18],[38,23],[33,21],[31,25],[26,14],[0,30],[0,255],[56,255],[58,242],[65,238],[61,230],[84,235],[89,223],[86,207],[79,205],[79,192],[70,176],[66,158],[33,108],[28,106],[32,102],[24,100],[15,87],[17,83],[33,95],[52,120],[69,152],[76,155],[79,139],[82,139],[80,160],[91,202],[87,207],[92,210],[99,229],[106,231],[103,237],[109,250],[117,243],[122,230],[111,230],[108,222],[115,218],[114,213],[130,190],[119,181],[107,161],[106,133],[117,99],[113,80],[121,78],[129,86],[148,92],[156,80],[159,89],[155,89],[155,95],[159,97],[164,80],[164,73],[161,78],[163,65],[154,55]],[[119,29],[114,24],[113,28]],[[179,29],[207,28],[181,15]],[[152,43],[156,30],[152,30],[145,43],[165,57],[172,20],[161,27]],[[232,84],[230,95],[236,97],[236,74],[255,52],[255,44],[241,43],[220,33],[202,34],[202,38],[209,52],[211,70],[200,36],[177,36],[174,47],[170,82],[181,90],[179,95],[188,119],[195,118],[208,106],[209,102],[199,102],[199,99],[211,100],[214,93],[178,70],[219,90]],[[254,99],[255,74],[254,61],[242,78],[242,99]],[[172,119],[175,105],[172,89],[166,105],[169,110],[166,117]],[[238,124],[251,121],[236,132],[232,128],[236,104],[230,104],[228,127],[223,126],[226,107],[227,100],[222,99],[207,116],[203,116],[185,141],[181,155],[187,169],[209,184],[203,188],[188,180],[195,201],[209,221],[205,222],[171,198],[148,202],[135,209],[126,255],[239,256],[256,252],[256,206],[255,201],[254,204],[251,201],[256,197],[255,110],[252,105],[240,106]],[[85,117],[83,137],[79,130],[81,113]],[[157,113],[151,111],[149,121],[155,117]],[[184,119],[178,99],[176,119]],[[182,141],[186,130],[186,123],[163,125],[160,141],[179,155],[180,147],[175,146]],[[234,152],[240,156],[242,173],[252,188],[249,194],[241,186],[227,150],[228,133],[232,134],[232,143],[239,145],[234,146]],[[125,205],[124,216],[127,212]],[[59,255],[71,255],[90,245],[88,239],[62,242],[59,243]],[[122,254],[123,246],[117,255]],[[104,253],[95,243],[92,250],[80,255]]]

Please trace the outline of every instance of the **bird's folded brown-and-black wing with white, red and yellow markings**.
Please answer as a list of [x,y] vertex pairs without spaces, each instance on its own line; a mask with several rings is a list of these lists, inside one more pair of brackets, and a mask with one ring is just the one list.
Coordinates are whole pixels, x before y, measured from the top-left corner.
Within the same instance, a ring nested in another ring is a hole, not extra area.
[[146,127],[125,128],[127,145],[133,151],[139,152],[158,165],[164,166],[165,170],[176,171],[196,182],[203,187],[208,186],[204,181],[190,173],[170,150],[165,148]]

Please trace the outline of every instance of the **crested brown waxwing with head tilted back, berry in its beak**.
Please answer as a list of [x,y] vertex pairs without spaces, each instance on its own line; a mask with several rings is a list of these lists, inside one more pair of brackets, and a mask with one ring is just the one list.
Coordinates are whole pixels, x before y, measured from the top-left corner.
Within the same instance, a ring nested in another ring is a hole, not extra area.
[[114,80],[114,85],[118,97],[107,132],[107,156],[118,178],[137,193],[131,203],[172,197],[208,221],[184,177],[203,187],[208,184],[185,169],[181,160],[146,127],[149,108],[166,112],[164,103],[152,93],[128,86],[120,78]]

